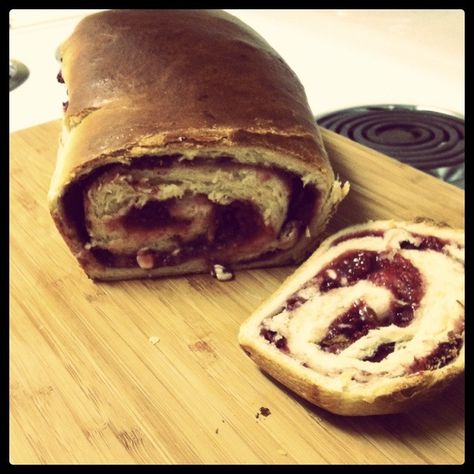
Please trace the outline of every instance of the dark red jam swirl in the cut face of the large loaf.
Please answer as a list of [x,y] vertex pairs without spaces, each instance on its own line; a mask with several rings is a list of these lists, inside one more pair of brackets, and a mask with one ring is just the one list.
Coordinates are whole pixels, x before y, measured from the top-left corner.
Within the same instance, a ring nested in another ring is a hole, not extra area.
[[[176,166],[181,155],[151,156],[144,155],[134,159],[130,165],[136,169],[169,168]],[[242,166],[255,168],[263,177],[265,174],[273,173],[287,183],[289,188],[288,210],[285,221],[281,226],[282,232],[291,224],[295,229],[295,242],[314,216],[319,198],[318,190],[314,186],[303,186],[300,177],[293,173],[283,171],[278,168],[256,167],[254,165],[241,165],[236,163],[232,157],[222,156],[211,159],[196,157],[193,160],[186,160],[180,166],[190,169],[200,166],[214,166],[218,164],[223,169],[237,170]],[[117,168],[117,164],[111,163],[97,168],[81,180],[72,183],[63,196],[63,206],[66,219],[75,228],[76,234],[83,245],[89,242],[89,232],[85,223],[84,193],[103,174]],[[121,169],[128,165],[120,165]],[[222,262],[226,258],[233,258],[240,251],[243,261],[253,261],[257,259],[270,258],[284,249],[276,248],[265,250],[265,242],[273,242],[279,239],[280,235],[275,235],[276,230],[264,223],[260,210],[250,201],[235,200],[228,205],[213,203],[212,222],[208,226],[206,234],[199,235],[191,241],[183,242],[179,237],[179,229],[187,228],[189,222],[185,217],[175,215],[173,211],[173,199],[167,201],[153,201],[140,208],[132,208],[122,217],[119,225],[127,228],[133,233],[148,233],[160,228],[170,228],[177,230],[176,243],[179,246],[178,252],[166,253],[150,251],[154,260],[154,267],[178,265],[186,260],[195,257],[210,259],[211,257],[221,258]],[[210,203],[210,201],[209,201]],[[176,203],[175,203],[176,204]],[[279,231],[278,231],[279,232]],[[256,253],[257,248],[262,248],[259,257],[252,256],[250,260],[245,260],[245,253]],[[221,251],[219,255],[214,255],[216,250]],[[90,252],[103,265],[109,267],[136,267],[137,255],[110,251],[107,248],[93,247]],[[225,262],[224,262],[225,263]]]

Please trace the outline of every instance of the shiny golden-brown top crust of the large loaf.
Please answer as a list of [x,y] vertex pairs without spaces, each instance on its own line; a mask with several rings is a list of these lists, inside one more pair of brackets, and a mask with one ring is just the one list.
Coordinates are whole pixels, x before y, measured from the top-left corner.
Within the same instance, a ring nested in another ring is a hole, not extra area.
[[143,140],[160,146],[180,137],[193,145],[263,144],[302,165],[328,167],[299,80],[229,14],[100,12],[79,23],[61,57],[66,123],[72,128],[90,117],[80,148],[68,154],[69,171]]

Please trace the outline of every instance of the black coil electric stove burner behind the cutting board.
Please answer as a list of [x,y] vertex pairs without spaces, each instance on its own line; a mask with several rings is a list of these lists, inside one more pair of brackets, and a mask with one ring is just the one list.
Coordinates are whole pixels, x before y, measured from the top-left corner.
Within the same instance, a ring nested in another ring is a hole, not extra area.
[[353,107],[317,117],[321,127],[464,189],[464,120],[419,106]]

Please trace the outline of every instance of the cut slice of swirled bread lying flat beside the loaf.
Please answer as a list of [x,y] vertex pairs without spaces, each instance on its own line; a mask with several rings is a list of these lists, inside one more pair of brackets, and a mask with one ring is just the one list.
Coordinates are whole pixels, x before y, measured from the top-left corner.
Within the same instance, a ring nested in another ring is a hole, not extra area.
[[328,411],[405,411],[464,371],[464,232],[429,220],[341,230],[242,324],[239,343]]

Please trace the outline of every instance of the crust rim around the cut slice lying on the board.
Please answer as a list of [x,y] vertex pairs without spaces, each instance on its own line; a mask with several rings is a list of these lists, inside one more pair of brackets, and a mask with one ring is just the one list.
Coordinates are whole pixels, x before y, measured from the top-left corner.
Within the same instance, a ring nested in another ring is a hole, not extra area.
[[[464,246],[464,235],[461,229],[452,229],[424,218],[417,219],[416,222],[373,221],[343,229],[322,242],[316,252],[295,273],[290,275],[244,321],[240,328],[239,344],[263,371],[269,373],[304,399],[333,413],[360,416],[403,412],[423,400],[432,398],[464,372],[463,343],[456,359],[444,367],[412,373],[408,371],[408,373],[401,376],[380,375],[376,376],[373,382],[358,384],[342,377],[338,380],[336,375],[326,377],[324,374],[307,367],[298,358],[285,355],[275,345],[269,344],[261,337],[259,329],[261,322],[271,315],[279,314],[287,298],[314,276],[316,268],[320,267],[321,259],[333,248],[333,243],[337,239],[357,232],[390,229],[406,229],[409,232],[436,236],[440,239],[453,241],[461,247]],[[454,256],[454,261],[457,258],[461,257]],[[429,281],[435,278],[433,275],[423,276],[427,279],[425,284],[430,284]],[[439,278],[442,279],[443,277],[443,274],[439,275]],[[438,295],[438,299],[431,303],[435,306],[441,305],[442,296]],[[461,310],[456,308],[462,314],[462,323],[451,321],[449,324],[454,324],[454,327],[461,324],[463,327],[464,306],[461,301],[457,301],[457,303],[462,308]],[[446,321],[450,321],[450,315],[442,314],[442,317],[445,317]],[[453,318],[455,317],[457,316],[453,315]],[[432,321],[432,325],[436,327],[440,327],[440,324],[444,323]],[[446,334],[444,336],[440,334],[440,337],[446,337]],[[443,342],[443,340],[439,342]],[[327,367],[327,370],[330,370],[330,367]]]

